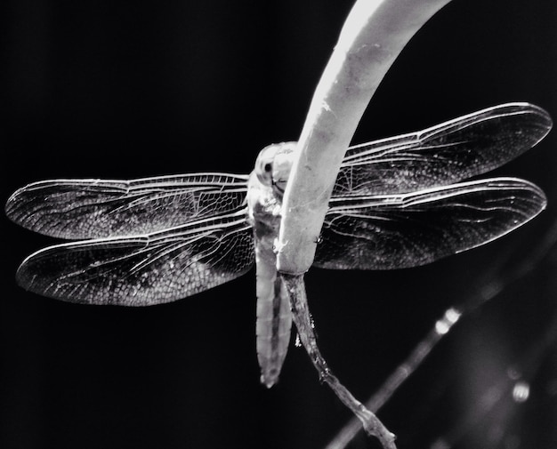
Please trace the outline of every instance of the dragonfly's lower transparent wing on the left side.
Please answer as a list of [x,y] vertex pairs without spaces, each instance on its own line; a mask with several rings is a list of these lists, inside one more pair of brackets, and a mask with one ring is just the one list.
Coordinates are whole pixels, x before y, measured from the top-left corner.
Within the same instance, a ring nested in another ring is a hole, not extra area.
[[252,229],[234,213],[149,235],[51,246],[23,261],[17,280],[63,301],[149,306],[221,285],[253,263]]

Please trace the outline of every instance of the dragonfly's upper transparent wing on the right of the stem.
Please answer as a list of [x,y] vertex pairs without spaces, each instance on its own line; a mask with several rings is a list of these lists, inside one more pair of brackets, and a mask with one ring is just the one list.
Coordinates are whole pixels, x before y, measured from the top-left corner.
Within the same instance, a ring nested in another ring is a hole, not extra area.
[[333,197],[390,195],[453,184],[521,155],[551,127],[544,109],[509,103],[421,132],[351,147]]

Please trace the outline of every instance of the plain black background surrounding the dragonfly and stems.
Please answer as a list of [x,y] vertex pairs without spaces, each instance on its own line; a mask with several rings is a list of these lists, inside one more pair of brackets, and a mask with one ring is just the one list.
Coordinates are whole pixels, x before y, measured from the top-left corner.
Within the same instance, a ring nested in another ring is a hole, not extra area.
[[[250,172],[260,148],[297,138],[351,4],[4,1],[2,201],[48,178]],[[553,0],[455,0],[408,44],[354,141],[514,100],[557,117],[556,19]],[[507,273],[530,260],[556,216],[556,143],[496,172],[547,193],[523,229],[419,269],[308,274],[320,347],[356,397],[501,254]],[[0,447],[310,449],[350,418],[303,349],[276,387],[259,384],[253,271],[169,305],[78,306],[15,285],[20,261],[54,241],[0,221]],[[544,261],[456,325],[380,413],[400,448],[557,447],[554,273]]]

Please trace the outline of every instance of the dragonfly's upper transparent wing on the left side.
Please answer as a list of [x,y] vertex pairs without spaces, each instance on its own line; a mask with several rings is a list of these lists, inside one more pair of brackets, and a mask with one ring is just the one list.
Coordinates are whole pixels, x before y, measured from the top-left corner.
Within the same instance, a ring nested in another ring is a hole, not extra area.
[[239,211],[247,176],[196,173],[139,180],[44,180],[17,190],[6,215],[69,239],[145,234]]

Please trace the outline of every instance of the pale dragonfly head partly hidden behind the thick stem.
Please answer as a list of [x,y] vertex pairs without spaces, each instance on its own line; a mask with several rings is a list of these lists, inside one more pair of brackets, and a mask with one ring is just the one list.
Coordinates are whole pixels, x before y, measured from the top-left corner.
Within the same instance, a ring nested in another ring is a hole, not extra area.
[[257,179],[282,198],[292,169],[296,142],[274,143],[263,148],[255,161]]

